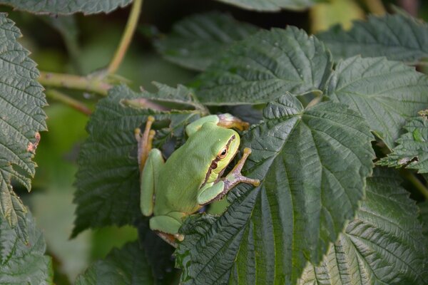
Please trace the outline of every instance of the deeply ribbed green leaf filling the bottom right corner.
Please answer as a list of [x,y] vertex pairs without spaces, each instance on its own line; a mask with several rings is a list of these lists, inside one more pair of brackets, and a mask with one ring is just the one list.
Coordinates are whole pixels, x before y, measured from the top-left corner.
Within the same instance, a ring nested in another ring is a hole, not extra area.
[[355,220],[299,284],[427,284],[427,240],[397,176],[374,171]]

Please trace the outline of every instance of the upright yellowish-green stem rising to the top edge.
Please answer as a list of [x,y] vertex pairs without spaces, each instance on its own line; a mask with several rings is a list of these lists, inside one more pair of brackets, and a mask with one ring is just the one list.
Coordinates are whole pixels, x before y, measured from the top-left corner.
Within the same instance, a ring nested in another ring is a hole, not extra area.
[[115,73],[121,65],[126,50],[128,50],[129,44],[131,43],[133,33],[134,31],[136,31],[142,5],[143,0],[133,1],[131,14],[129,15],[128,23],[126,23],[125,32],[123,33],[121,43],[119,43],[119,46],[116,49],[116,53],[114,54],[113,59],[111,60],[110,65],[108,66],[108,73]]

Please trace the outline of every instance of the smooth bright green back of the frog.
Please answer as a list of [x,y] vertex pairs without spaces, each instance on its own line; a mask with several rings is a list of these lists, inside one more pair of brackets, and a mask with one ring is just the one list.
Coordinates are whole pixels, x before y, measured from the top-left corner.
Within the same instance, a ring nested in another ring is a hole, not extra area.
[[[198,190],[205,182],[208,167],[217,155],[215,150],[220,143],[217,139],[219,127],[208,127],[198,130],[197,136],[190,136],[165,162],[157,179],[154,209],[156,215],[167,212],[193,213],[200,209],[197,202]],[[207,155],[213,152],[214,157]],[[162,209],[156,205],[163,205]]]

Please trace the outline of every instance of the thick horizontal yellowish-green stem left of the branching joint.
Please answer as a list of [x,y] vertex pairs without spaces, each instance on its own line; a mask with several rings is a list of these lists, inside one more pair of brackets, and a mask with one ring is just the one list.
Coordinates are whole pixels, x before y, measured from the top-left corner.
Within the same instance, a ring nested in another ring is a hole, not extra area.
[[60,87],[68,89],[82,90],[86,92],[107,95],[107,90],[112,86],[102,78],[75,76],[66,73],[46,73],[41,71],[39,83],[43,86]]

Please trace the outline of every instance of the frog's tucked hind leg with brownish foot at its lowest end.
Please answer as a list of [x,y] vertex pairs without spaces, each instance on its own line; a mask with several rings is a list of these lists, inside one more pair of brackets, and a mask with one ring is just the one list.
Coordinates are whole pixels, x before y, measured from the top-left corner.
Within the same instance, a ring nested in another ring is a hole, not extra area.
[[[178,217],[182,215],[182,213],[178,212],[174,212],[172,214]],[[177,247],[177,240],[179,242],[183,242],[183,234],[178,234],[178,229],[180,229],[181,223],[178,222],[177,219],[170,216],[161,215],[151,217],[149,223],[150,228],[153,229],[153,231],[155,231],[156,234],[161,237],[161,239],[163,239],[165,242],[168,242],[168,244],[172,245],[173,247]]]

